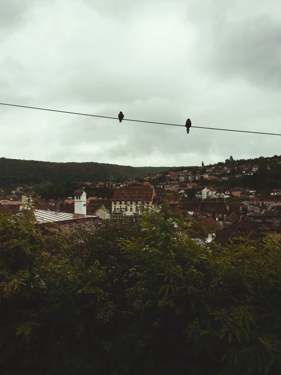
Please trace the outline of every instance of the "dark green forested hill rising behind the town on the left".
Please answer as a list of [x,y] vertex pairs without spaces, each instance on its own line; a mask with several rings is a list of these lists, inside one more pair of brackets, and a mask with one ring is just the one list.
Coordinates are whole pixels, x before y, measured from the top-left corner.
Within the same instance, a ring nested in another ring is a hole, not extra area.
[[160,173],[168,167],[132,167],[127,165],[86,163],[55,163],[49,161],[0,158],[0,187],[11,184],[40,184],[49,181],[123,181]]

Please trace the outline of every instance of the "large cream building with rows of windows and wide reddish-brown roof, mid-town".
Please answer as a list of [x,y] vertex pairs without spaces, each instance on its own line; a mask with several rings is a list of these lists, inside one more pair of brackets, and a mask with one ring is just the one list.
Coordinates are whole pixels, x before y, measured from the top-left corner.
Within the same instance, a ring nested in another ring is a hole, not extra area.
[[133,215],[137,208],[142,206],[152,209],[152,201],[155,195],[154,187],[150,186],[124,186],[116,187],[112,198],[113,214],[124,213]]

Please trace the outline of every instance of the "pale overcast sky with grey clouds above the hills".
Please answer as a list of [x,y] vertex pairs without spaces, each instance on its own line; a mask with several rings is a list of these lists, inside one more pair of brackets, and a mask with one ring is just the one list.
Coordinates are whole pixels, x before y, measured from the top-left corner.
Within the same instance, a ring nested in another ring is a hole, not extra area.
[[[281,133],[280,0],[0,0],[0,102]],[[281,137],[0,106],[0,157],[181,166]]]

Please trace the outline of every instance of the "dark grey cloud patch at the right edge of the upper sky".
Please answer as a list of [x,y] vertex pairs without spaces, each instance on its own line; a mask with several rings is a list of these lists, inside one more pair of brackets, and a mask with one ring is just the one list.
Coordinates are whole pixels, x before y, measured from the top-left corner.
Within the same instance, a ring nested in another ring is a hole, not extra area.
[[216,34],[211,59],[224,76],[240,76],[252,84],[281,88],[281,21],[247,20]]

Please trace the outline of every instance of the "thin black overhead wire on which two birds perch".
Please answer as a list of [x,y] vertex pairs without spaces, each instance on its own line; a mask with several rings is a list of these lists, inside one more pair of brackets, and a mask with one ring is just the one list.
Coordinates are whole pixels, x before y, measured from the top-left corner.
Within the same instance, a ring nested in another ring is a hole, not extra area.
[[[21,107],[21,108],[29,108],[32,110],[41,110],[41,111],[51,111],[51,112],[60,112],[60,113],[69,113],[72,115],[82,115],[82,116],[91,116],[91,117],[101,117],[101,118],[109,118],[113,120],[118,120],[118,117],[109,117],[109,116],[98,116],[98,115],[90,115],[88,113],[78,113],[78,112],[68,112],[68,111],[59,111],[59,110],[50,110],[47,108],[37,108],[37,107],[27,107],[27,106],[18,106],[16,104],[7,104],[7,103],[0,103],[2,106],[11,106],[11,107]],[[185,125],[179,125],[179,124],[168,124],[165,122],[154,122],[154,121],[143,121],[143,120],[131,120],[131,119],[123,119],[122,121],[134,121],[134,122],[146,122],[148,124],[159,124],[159,125],[171,125],[171,126],[184,126]],[[281,134],[275,134],[275,133],[263,133],[259,131],[249,131],[249,130],[234,130],[234,129],[220,129],[215,127],[203,127],[203,126],[191,126],[192,128],[198,128],[198,129],[211,129],[211,130],[224,130],[224,131],[238,131],[240,133],[254,133],[254,134],[267,134],[267,135],[281,135]]]

